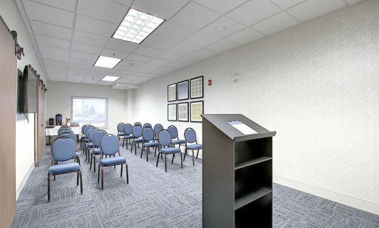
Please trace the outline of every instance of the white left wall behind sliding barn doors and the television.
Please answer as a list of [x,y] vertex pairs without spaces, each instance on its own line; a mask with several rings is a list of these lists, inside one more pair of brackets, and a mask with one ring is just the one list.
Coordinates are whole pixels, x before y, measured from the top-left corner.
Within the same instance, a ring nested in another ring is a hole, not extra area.
[[[17,68],[24,70],[25,65],[31,64],[40,74],[47,85],[41,63],[35,51],[35,46],[29,38],[29,33],[13,0],[0,1],[0,15],[8,28],[17,32],[17,41],[24,48],[25,56],[17,61]],[[17,76],[14,79],[17,80]],[[24,114],[16,116],[16,190],[17,197],[20,185],[27,176],[29,169],[34,165],[34,114],[29,114],[29,123]]]

